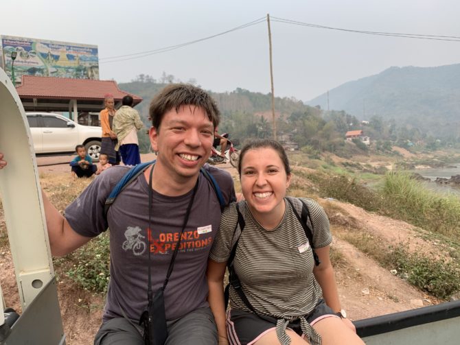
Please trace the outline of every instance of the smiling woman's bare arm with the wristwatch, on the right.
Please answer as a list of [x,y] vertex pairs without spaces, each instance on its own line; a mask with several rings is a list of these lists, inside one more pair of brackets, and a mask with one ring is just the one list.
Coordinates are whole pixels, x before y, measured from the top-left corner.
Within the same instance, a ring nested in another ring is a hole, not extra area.
[[[337,284],[334,274],[334,268],[330,260],[330,246],[323,248],[315,248],[314,250],[321,262],[319,265],[314,266],[313,274],[317,279],[319,286],[323,290],[323,298],[326,305],[329,306],[335,313],[341,311],[341,302],[338,299]],[[353,331],[356,332],[354,324],[348,319],[342,319],[345,324]]]

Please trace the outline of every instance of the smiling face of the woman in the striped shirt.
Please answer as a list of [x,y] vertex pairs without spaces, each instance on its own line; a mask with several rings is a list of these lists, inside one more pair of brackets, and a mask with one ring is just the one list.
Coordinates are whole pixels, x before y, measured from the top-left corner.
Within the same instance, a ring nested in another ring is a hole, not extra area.
[[290,175],[273,148],[248,150],[242,157],[240,180],[244,199],[257,219],[284,212]]

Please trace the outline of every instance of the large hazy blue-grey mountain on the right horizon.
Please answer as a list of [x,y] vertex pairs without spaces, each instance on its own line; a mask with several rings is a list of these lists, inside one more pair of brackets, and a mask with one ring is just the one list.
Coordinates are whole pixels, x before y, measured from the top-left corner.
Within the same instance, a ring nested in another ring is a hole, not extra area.
[[[327,109],[327,94],[308,104]],[[409,124],[435,136],[458,134],[460,64],[391,67],[332,89],[329,108],[359,119],[395,119],[400,126]]]

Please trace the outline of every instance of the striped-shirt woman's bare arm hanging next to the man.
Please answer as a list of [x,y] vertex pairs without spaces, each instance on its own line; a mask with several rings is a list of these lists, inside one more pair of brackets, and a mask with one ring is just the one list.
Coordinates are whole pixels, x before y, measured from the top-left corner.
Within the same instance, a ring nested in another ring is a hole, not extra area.
[[224,301],[224,274],[227,263],[217,263],[211,259],[207,264],[207,285],[209,295],[207,300],[214,314],[219,335],[219,345],[228,344],[227,329],[225,326],[225,301]]

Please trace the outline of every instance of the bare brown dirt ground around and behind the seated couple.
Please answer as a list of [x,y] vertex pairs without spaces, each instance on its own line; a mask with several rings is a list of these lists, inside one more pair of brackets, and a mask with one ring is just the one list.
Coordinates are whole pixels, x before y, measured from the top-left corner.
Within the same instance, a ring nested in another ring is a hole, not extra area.
[[[142,161],[152,158],[154,158],[153,154],[143,155]],[[69,174],[70,179],[67,162],[69,156],[37,158],[38,171],[46,174]],[[230,165],[220,165],[220,167],[227,169],[232,176],[237,175]],[[337,219],[355,224],[375,237],[376,241],[382,241],[382,245],[405,243],[410,240],[413,250],[435,248],[433,243],[419,238],[419,233],[410,224],[367,213],[359,207],[336,200],[319,200],[319,202],[323,205],[332,203],[334,210],[340,210],[332,215],[334,218],[332,224],[340,223]],[[0,218],[3,218],[1,214]],[[2,222],[3,219],[0,219],[0,226],[3,226]],[[332,226],[332,234],[334,235],[334,226]],[[332,245],[341,253],[343,259],[343,263],[335,268],[336,281],[342,306],[347,310],[350,319],[360,320],[438,302],[432,296],[420,292],[402,279],[393,276],[388,270],[384,270],[347,241],[335,237]],[[0,281],[5,305],[21,310],[14,267],[7,248],[0,248]],[[93,337],[100,326],[103,298],[74,289],[66,278],[59,281],[58,294],[67,344],[92,344]]]

